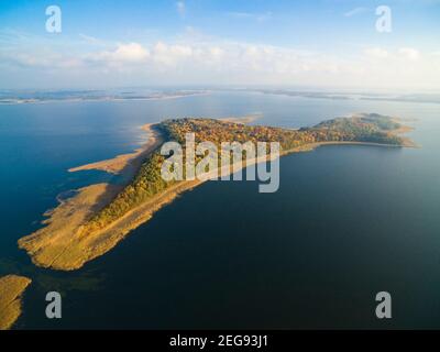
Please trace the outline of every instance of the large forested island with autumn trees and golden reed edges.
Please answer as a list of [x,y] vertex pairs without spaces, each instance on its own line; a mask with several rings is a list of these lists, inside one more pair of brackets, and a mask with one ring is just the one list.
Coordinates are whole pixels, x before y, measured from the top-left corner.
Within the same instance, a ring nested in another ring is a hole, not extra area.
[[[223,141],[278,142],[280,155],[327,144],[415,146],[402,135],[409,128],[396,118],[377,113],[358,113],[296,130],[249,125],[231,118],[170,119],[145,129],[150,140],[138,152],[70,169],[98,168],[128,173],[130,177],[122,186],[96,184],[84,187],[46,212],[45,227],[19,240],[19,246],[28,252],[34,264],[62,271],[80,268],[114,248],[178,195],[202,184],[199,179],[165,180],[161,177],[161,165],[166,160],[161,154],[161,146],[167,141],[185,144],[187,133],[194,133],[196,142],[209,141],[216,145]],[[246,163],[245,167],[250,165]]]

